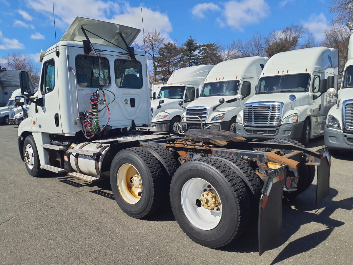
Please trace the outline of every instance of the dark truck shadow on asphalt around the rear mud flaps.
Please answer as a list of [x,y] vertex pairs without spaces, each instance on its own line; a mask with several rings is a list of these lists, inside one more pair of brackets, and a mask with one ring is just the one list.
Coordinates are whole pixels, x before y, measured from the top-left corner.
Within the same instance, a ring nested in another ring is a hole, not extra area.
[[[311,185],[311,192],[315,192],[315,186],[316,185]],[[345,224],[340,220],[330,218],[330,216],[337,209],[351,211],[353,209],[353,197],[340,201],[333,201],[332,199],[337,194],[337,190],[330,188],[329,196],[323,199],[323,202],[321,203],[322,205],[325,205],[324,208],[321,208],[323,207],[321,204],[316,206],[315,200],[308,201],[307,199],[301,199],[300,196],[293,202],[283,201],[282,237],[273,249],[285,244],[302,225],[315,222],[323,224],[326,226],[326,229],[305,235],[289,242],[271,264],[276,264],[297,254],[310,251],[310,249],[313,249],[320,243],[324,242],[335,228]],[[253,225],[253,229],[249,229],[232,244],[229,244],[220,250],[236,253],[258,252],[258,226],[256,221],[251,225]]]

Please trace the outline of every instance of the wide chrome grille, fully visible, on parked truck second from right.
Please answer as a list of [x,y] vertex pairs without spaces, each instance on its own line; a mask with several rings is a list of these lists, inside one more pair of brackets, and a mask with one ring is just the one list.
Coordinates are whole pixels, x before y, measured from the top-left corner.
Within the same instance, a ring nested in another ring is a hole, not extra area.
[[251,102],[244,105],[244,125],[279,125],[283,103],[274,101]]

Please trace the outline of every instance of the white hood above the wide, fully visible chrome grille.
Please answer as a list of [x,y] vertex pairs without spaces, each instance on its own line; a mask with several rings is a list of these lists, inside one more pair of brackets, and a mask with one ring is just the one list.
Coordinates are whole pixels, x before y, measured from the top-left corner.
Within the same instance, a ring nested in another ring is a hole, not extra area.
[[[296,100],[289,100],[289,95],[295,95]],[[258,102],[258,101],[276,101],[283,102],[284,105],[298,106],[301,105],[301,101],[309,99],[310,96],[307,93],[275,93],[275,94],[259,94],[253,95],[246,103]]]

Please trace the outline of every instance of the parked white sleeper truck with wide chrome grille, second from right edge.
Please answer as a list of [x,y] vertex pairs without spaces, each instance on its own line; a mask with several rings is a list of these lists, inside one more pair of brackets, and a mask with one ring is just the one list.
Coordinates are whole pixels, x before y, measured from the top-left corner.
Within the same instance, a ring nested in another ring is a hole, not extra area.
[[[265,65],[256,93],[237,117],[236,133],[246,139],[291,138],[305,146],[324,133],[337,88],[338,51],[315,47],[273,55]],[[327,80],[328,79],[328,80]],[[329,81],[329,82],[327,82]]]

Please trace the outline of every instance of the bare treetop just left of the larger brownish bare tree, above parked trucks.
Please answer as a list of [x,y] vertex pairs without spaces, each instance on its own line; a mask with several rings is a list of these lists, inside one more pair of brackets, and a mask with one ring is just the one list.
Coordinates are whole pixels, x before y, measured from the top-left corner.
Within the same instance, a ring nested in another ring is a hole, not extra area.
[[241,57],[265,56],[264,37],[258,32],[253,34],[251,39],[233,41],[232,46]]

